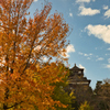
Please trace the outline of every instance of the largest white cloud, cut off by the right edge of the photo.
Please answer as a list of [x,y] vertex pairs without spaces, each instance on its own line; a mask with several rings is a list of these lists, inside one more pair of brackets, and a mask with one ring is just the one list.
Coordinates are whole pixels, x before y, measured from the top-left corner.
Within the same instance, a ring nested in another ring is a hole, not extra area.
[[96,37],[110,44],[110,25],[87,25],[85,30],[88,31],[88,35],[95,35]]

